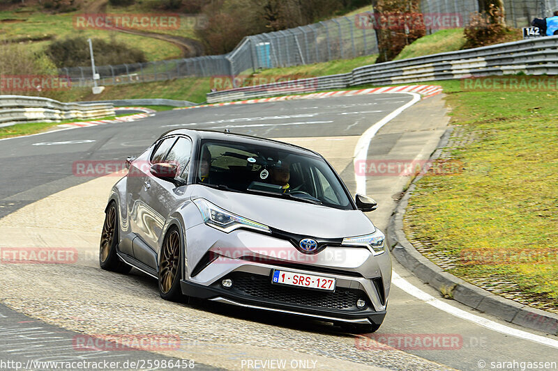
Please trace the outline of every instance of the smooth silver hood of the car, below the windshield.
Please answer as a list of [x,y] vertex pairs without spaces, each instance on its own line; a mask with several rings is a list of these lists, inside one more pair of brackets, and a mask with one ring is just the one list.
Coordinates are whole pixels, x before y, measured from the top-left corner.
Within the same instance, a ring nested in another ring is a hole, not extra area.
[[375,227],[360,210],[338,210],[270,196],[220,191],[194,185],[190,197],[205,198],[229,212],[297,235],[340,238],[367,235]]

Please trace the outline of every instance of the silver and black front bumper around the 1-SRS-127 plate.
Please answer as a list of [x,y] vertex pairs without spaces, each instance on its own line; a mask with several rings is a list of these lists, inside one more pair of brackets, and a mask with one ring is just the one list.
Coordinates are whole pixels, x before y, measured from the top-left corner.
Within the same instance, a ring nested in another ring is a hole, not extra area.
[[[285,239],[248,230],[224,233],[205,225],[186,230],[186,241],[196,246],[195,251],[187,249],[190,265],[186,262],[186,279],[181,281],[189,297],[332,322],[381,324],[386,315],[391,282],[387,251],[374,256],[364,247],[328,246],[307,255]],[[200,250],[202,242],[206,248]],[[202,252],[214,260],[204,265]],[[204,267],[194,269],[196,265]],[[335,278],[335,291],[274,285],[275,269]],[[223,287],[224,279],[231,279],[232,287]],[[365,301],[364,308],[356,306],[358,299]]]

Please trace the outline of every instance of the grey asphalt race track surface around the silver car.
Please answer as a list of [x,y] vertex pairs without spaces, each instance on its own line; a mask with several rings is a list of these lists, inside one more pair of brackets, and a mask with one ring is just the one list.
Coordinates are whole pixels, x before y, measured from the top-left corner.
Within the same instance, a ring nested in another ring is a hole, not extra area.
[[[92,230],[92,237],[83,237],[83,250],[81,242],[76,242],[84,254],[76,264],[2,264],[0,260],[0,361],[187,358],[195,360],[200,370],[246,369],[248,361],[281,359],[287,359],[291,367],[294,359],[304,361],[295,363],[296,368],[319,370],[490,370],[495,369],[490,367],[492,362],[558,361],[555,337],[442,299],[395,261],[395,277],[400,278],[392,284],[388,315],[377,334],[388,340],[402,334],[414,334],[415,339],[458,338],[456,344],[437,350],[411,344],[400,349],[370,348],[365,339],[322,322],[203,301],[188,306],[169,303],[158,297],[156,281],[141,272],[122,276],[98,267],[94,232],[100,229],[96,223],[103,216],[110,185],[118,178],[75,176],[75,161],[125,159],[174,128],[228,128],[322,152],[354,193],[357,179],[352,160],[360,136],[412,98],[408,94],[357,95],[163,111],[133,123],[0,141],[0,248],[43,246],[45,241],[29,237],[32,226],[24,228],[33,217],[56,221],[51,223],[51,234],[71,233],[59,226],[73,223],[76,230]],[[379,129],[370,142],[368,158],[427,159],[446,131],[445,113],[440,96],[416,103]],[[379,228],[386,228],[395,198],[407,181],[396,176],[365,180],[368,196],[379,202],[377,212],[368,215]],[[56,195],[59,198],[52,198]],[[80,202],[89,202],[86,205],[91,208],[80,208]],[[43,205],[57,211],[43,216]],[[92,226],[87,226],[89,217]],[[455,310],[437,308],[428,295]],[[476,317],[455,315],[460,310]],[[80,333],[174,334],[180,337],[181,347],[83,352],[73,347]]]

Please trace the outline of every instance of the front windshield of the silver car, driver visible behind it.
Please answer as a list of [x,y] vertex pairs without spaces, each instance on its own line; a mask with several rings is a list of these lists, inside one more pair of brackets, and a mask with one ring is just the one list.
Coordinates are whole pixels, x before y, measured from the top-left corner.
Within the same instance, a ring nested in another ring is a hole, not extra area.
[[323,159],[264,145],[204,141],[195,183],[352,210],[349,195]]

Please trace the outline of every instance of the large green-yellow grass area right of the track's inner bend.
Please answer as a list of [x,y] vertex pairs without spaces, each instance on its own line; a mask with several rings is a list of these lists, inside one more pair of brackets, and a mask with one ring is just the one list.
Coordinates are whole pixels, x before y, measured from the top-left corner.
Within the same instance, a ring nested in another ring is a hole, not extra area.
[[473,283],[506,281],[504,295],[558,311],[558,92],[433,84],[448,94],[453,125],[476,139],[451,150],[462,171],[418,182],[407,234],[456,258],[450,273]]

